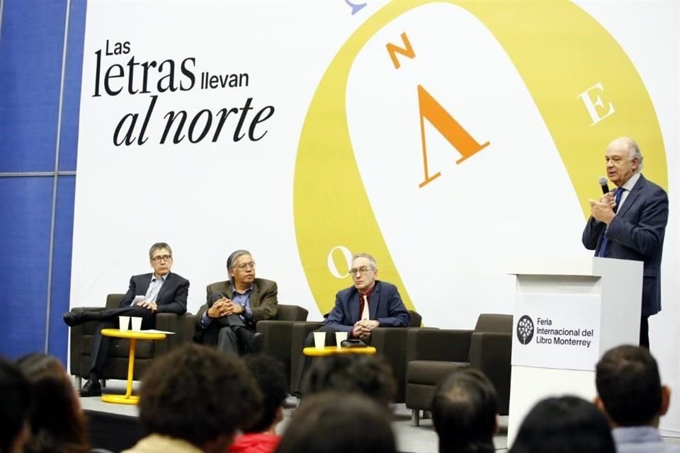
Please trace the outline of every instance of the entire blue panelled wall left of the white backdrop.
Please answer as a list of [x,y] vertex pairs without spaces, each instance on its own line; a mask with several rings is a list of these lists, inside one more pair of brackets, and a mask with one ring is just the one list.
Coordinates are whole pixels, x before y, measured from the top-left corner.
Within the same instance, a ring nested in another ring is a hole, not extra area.
[[[0,173],[55,170],[62,65],[58,164],[60,171],[75,171],[86,0],[0,2]],[[49,291],[47,351],[67,359],[69,331],[61,315],[69,308],[75,177],[58,178],[48,288],[54,181],[0,177],[0,355],[45,350]]]

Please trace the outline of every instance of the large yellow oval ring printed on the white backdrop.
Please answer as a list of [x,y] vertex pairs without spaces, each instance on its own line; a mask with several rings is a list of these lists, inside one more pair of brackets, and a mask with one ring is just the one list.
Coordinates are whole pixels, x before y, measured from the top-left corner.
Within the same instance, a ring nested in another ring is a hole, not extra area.
[[[464,8],[502,45],[543,117],[585,217],[588,199],[599,195],[594,175],[604,173],[604,149],[616,137],[635,138],[646,158],[645,176],[667,189],[666,154],[647,89],[618,42],[581,8],[568,1],[394,1],[341,47],[314,93],[300,134],[293,187],[295,234],[322,313],[333,307],[335,293],[351,284],[327,268],[329,262],[337,270],[346,265],[340,255],[329,259],[339,246],[373,253],[380,279],[397,285],[404,303],[415,309],[363,187],[345,101],[349,72],[365,43],[395,18],[429,3]],[[602,119],[594,121],[593,113]]]

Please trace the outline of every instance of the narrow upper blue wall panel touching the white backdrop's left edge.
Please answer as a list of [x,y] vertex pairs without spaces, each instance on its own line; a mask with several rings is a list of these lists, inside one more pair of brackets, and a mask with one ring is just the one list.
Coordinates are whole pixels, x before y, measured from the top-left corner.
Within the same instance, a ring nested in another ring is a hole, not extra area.
[[86,9],[85,0],[74,0],[71,2],[69,36],[67,38],[66,46],[64,95],[62,101],[62,134],[59,154],[60,171],[74,171],[76,169]]

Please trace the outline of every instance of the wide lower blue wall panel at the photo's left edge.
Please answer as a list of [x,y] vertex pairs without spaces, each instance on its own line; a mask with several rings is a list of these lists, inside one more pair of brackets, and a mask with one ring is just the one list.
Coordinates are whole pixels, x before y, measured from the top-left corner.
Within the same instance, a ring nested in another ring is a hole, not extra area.
[[0,178],[0,355],[45,350],[53,183]]

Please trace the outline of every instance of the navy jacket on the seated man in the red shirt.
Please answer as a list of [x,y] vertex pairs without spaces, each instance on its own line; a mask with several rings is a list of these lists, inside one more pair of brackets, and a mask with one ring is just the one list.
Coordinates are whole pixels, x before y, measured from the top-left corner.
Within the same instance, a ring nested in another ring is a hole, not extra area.
[[[411,321],[397,287],[380,280],[375,280],[370,294],[368,315],[370,319],[377,319],[380,327],[407,327]],[[359,319],[359,292],[352,286],[336,294],[335,306],[324,323],[336,331],[351,332]]]

